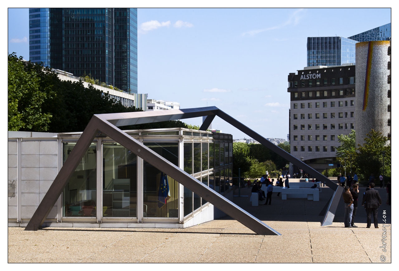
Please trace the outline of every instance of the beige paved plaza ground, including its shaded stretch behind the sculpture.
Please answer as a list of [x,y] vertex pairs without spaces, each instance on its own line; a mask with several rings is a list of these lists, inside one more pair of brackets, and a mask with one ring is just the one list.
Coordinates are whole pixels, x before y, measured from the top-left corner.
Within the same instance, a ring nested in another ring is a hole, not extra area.
[[[360,189],[359,200],[365,188]],[[229,217],[185,229],[8,228],[10,263],[385,263],[391,262],[391,206],[385,189],[377,189],[383,205],[379,228],[366,227],[365,210],[358,208],[355,224],[344,228],[342,198],[334,222],[320,226],[318,214],[332,190],[322,188],[320,201],[281,200],[251,206],[248,197],[234,203],[271,226],[282,236],[257,235]],[[235,191],[236,194],[238,191]],[[241,189],[249,195],[251,189]],[[387,214],[383,241],[383,210]],[[384,244],[386,243],[386,244]],[[386,252],[383,247],[386,246]],[[382,248],[380,248],[382,247]]]

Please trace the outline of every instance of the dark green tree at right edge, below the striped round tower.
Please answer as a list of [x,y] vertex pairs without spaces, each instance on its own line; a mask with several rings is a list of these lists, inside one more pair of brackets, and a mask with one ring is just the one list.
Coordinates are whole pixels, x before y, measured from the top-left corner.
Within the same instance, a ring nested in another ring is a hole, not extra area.
[[385,151],[384,166],[385,176],[391,176],[391,145],[387,144],[388,138],[381,132],[371,130],[366,134],[363,145],[358,144],[356,155],[358,175],[368,179],[371,173],[375,177],[383,172],[383,151]]

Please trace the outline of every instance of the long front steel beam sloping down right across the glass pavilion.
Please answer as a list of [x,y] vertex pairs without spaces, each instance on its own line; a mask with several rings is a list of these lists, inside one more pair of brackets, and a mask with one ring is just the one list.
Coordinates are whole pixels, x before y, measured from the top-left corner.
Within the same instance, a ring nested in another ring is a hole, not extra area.
[[158,155],[158,153],[155,153],[136,139],[128,136],[128,134],[122,132],[113,124],[110,124],[107,121],[101,121],[100,125],[97,127],[101,132],[111,137],[112,139],[114,139],[160,171],[168,174],[178,183],[181,183],[188,189],[194,191],[196,194],[198,194],[235,220],[241,222],[241,224],[247,226],[249,229],[253,230],[257,234],[281,235],[279,232],[273,230],[273,228],[270,228],[261,220],[255,218],[227,198],[221,196],[219,193],[205,186],[203,183],[199,182],[197,179],[195,179],[176,165],[164,159],[162,156]]

